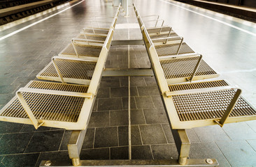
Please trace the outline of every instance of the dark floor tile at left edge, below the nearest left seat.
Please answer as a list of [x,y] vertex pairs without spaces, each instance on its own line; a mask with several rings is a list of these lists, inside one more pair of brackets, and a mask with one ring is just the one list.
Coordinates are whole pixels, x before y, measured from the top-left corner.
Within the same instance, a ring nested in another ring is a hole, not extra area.
[[0,154],[23,153],[33,133],[5,134],[0,140]]

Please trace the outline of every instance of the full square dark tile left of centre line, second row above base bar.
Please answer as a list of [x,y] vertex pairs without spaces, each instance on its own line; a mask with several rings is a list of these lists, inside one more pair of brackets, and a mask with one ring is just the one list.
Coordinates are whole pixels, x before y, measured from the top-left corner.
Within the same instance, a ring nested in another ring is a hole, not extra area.
[[96,128],[94,148],[106,148],[113,146],[118,146],[118,128]]

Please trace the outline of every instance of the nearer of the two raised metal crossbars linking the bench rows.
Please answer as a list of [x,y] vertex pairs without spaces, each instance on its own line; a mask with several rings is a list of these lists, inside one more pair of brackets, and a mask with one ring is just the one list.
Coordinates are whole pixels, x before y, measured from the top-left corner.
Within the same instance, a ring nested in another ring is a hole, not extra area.
[[103,77],[118,77],[118,76],[154,76],[152,69],[109,69],[106,68],[102,72]]

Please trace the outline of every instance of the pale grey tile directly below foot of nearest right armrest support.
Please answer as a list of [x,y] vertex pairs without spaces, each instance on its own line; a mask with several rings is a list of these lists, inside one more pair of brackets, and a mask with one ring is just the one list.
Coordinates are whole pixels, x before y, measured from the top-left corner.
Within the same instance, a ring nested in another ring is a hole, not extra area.
[[197,127],[194,128],[194,132],[197,134],[200,141],[230,141],[229,136],[225,134],[219,125]]

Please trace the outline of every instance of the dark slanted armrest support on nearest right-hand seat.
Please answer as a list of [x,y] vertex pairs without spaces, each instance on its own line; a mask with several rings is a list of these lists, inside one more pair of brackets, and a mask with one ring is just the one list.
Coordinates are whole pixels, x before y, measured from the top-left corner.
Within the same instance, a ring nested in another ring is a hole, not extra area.
[[232,112],[232,110],[234,109],[234,106],[236,105],[237,100],[239,100],[239,97],[241,95],[242,90],[241,89],[237,89],[236,90],[236,94],[234,95],[232,101],[229,103],[229,106],[227,106],[227,109],[225,111],[225,113],[223,114],[222,118],[220,119],[220,121],[218,121],[219,125],[222,127],[225,124],[225,121],[227,120],[227,118],[229,117],[229,114]]

